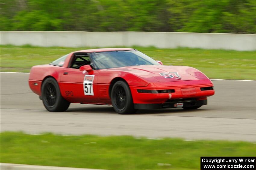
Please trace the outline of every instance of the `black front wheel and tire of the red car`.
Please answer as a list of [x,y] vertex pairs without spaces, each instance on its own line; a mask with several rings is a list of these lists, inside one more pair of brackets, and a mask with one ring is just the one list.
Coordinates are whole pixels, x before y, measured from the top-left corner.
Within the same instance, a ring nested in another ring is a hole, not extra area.
[[138,109],[134,109],[133,98],[129,86],[126,82],[117,81],[111,90],[111,102],[114,110],[121,114],[133,114]]

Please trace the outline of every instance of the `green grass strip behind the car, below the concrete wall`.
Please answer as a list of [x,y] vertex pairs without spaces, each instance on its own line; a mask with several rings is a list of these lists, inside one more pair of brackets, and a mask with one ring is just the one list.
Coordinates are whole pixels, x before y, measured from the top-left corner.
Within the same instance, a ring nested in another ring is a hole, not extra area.
[[[255,51],[208,49],[157,49],[133,47],[165,65],[185,65],[201,70],[209,78],[255,80]],[[72,51],[64,47],[0,46],[1,71],[29,72],[33,65],[48,64]]]

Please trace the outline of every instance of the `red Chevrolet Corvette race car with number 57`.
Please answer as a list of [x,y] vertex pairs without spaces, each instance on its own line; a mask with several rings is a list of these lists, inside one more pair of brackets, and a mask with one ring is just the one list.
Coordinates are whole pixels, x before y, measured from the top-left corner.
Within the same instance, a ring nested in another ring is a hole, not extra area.
[[199,70],[166,66],[130,48],[87,49],[33,66],[29,86],[50,112],[70,103],[113,105],[119,114],[138,109],[197,109],[214,95]]

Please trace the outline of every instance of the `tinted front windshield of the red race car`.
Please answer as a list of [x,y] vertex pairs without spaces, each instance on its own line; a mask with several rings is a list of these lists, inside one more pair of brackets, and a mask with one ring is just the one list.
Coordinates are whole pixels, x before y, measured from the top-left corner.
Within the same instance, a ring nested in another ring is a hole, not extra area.
[[160,65],[154,59],[136,50],[91,53],[91,58],[97,69],[136,65]]

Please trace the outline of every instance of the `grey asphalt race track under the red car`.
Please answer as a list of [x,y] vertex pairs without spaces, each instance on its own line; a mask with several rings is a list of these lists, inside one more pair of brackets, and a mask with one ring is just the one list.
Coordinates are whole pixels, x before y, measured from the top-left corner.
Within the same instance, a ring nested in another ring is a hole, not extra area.
[[57,134],[133,135],[187,140],[221,139],[255,143],[256,82],[213,80],[216,93],[208,105],[141,110],[118,115],[112,106],[71,104],[66,112],[48,112],[28,86],[29,74],[0,73],[1,131]]

